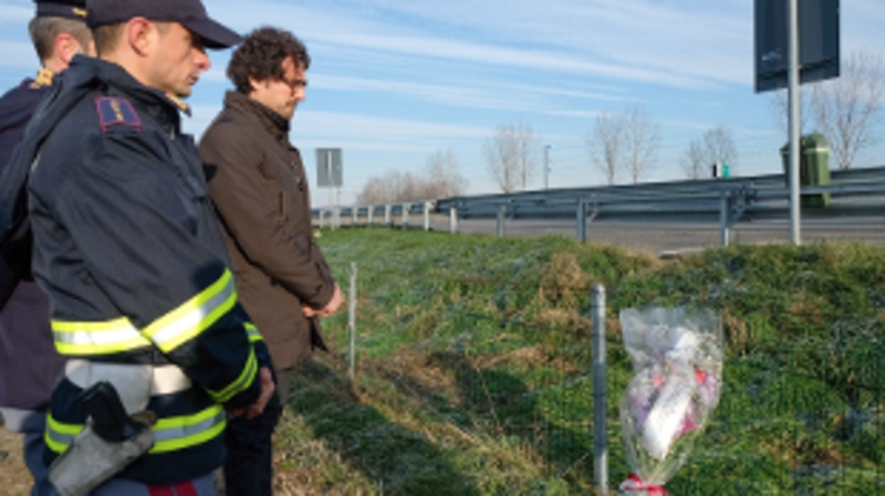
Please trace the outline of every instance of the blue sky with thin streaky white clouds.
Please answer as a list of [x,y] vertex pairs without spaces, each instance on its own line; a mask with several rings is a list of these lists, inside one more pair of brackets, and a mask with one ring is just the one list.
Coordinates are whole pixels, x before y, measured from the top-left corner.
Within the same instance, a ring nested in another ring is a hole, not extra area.
[[[801,0],[800,0],[801,1]],[[292,141],[315,175],[314,148],[344,149],[342,201],[388,170],[420,172],[451,148],[470,193],[494,192],[483,141],[522,122],[552,147],[551,187],[598,184],[584,145],[601,110],[642,105],[662,127],[646,180],[683,178],[678,158],[705,129],[726,125],[739,175],[780,170],[785,137],[770,97],[753,93],[752,0],[205,0],[212,17],[248,32],[293,31],[313,65]],[[33,4],[0,0],[0,87],[37,66],[25,24]],[[842,53],[885,55],[882,0],[842,1]],[[190,99],[188,131],[220,109],[228,52]],[[885,138],[879,125],[876,135]],[[883,147],[860,166],[883,165]],[[878,161],[877,161],[878,160]],[[540,188],[540,173],[532,187]],[[314,203],[327,201],[314,191]]]

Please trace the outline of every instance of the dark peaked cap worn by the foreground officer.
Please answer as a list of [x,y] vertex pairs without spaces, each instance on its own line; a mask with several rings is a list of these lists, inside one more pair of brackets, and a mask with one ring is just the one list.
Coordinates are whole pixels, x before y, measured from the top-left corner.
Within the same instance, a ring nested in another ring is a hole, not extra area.
[[200,0],[86,0],[86,23],[92,29],[145,18],[184,25],[199,34],[207,49],[227,49],[242,41],[236,32],[209,19]]

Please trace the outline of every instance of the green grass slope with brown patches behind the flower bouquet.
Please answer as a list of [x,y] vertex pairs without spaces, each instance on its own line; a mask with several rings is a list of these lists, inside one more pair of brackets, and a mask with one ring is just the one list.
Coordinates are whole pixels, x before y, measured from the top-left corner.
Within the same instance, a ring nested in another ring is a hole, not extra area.
[[[590,287],[606,286],[610,477],[629,473],[617,404],[632,371],[618,312],[721,313],[722,402],[671,494],[883,492],[885,250],[732,246],[663,263],[563,238],[323,232],[346,292],[358,263],[355,382],[346,315],[293,386],[278,439],[306,494],[590,494]],[[306,489],[305,489],[306,488]]]

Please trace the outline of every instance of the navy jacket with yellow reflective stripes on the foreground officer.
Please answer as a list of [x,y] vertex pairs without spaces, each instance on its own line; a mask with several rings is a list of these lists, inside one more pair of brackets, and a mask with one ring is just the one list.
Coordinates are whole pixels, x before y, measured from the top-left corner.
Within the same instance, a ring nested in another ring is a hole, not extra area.
[[[159,442],[119,474],[144,484],[220,466],[221,404],[253,403],[258,369],[271,366],[247,327],[179,118],[175,103],[118,65],[75,57],[10,162],[27,179],[33,274],[52,302],[56,349],[94,363],[174,366],[189,381],[145,395]],[[10,199],[19,196],[0,198],[0,229],[17,210]],[[53,391],[48,463],[86,423],[79,397],[88,386],[66,377]]]

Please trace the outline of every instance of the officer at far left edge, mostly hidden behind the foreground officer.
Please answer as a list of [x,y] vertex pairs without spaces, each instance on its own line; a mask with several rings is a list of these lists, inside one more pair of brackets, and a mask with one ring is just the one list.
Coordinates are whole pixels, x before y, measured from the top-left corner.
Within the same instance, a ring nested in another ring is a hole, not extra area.
[[[37,0],[29,24],[42,67],[0,97],[0,173],[54,75],[77,53],[94,55],[85,0]],[[64,359],[49,328],[49,300],[30,277],[30,242],[14,240],[0,258],[0,411],[13,432],[24,434],[24,462],[32,494],[50,494],[43,464],[45,410]],[[14,268],[14,270],[13,270]]]

